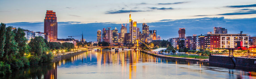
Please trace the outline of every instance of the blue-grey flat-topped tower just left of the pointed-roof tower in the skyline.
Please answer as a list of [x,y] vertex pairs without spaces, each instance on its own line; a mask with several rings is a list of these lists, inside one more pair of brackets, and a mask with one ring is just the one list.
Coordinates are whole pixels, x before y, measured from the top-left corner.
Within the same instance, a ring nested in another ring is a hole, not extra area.
[[106,42],[113,43],[113,30],[111,27],[106,28]]

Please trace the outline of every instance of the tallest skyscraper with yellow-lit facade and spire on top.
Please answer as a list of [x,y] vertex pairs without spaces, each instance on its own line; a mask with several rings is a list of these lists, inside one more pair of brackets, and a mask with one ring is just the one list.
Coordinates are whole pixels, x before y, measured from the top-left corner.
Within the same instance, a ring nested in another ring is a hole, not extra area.
[[133,22],[133,20],[131,19],[131,14],[130,14],[129,18],[130,18],[130,21],[129,21],[130,25],[129,26],[130,26],[130,34],[131,34],[130,41],[132,42],[132,41],[136,40],[136,36],[137,36],[137,32],[136,32],[137,22]]

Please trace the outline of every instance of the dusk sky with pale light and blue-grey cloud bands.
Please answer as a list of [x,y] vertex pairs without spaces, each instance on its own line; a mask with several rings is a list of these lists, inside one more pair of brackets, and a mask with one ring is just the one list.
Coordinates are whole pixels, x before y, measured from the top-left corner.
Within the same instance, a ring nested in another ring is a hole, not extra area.
[[[46,10],[56,12],[58,38],[77,36],[84,32],[88,41],[96,41],[96,31],[121,28],[131,11],[133,21],[142,31],[145,22],[157,30],[162,39],[177,37],[179,28],[186,36],[206,34],[213,27],[228,29],[228,33],[255,36],[255,0],[2,0],[0,22],[7,26],[32,31],[44,31]],[[120,21],[121,19],[121,21]],[[129,24],[129,23],[128,23]],[[171,28],[170,28],[171,27]],[[128,28],[129,29],[129,28]],[[254,30],[253,30],[254,29]],[[80,39],[80,37],[74,37]]]

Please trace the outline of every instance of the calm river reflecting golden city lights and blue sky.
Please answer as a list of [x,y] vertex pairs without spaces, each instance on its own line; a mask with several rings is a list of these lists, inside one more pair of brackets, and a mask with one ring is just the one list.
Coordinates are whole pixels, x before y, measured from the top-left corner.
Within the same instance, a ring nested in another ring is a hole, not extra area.
[[[86,51],[2,76],[11,79],[221,79],[256,78],[255,69],[163,59],[140,51]],[[1,79],[2,79],[1,78]]]

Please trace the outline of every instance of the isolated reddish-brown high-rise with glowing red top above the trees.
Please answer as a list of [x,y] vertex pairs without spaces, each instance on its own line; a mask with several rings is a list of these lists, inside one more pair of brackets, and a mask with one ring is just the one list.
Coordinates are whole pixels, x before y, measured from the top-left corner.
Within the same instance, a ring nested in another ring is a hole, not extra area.
[[58,25],[55,12],[47,10],[44,18],[45,39],[50,42],[57,42],[57,29]]

